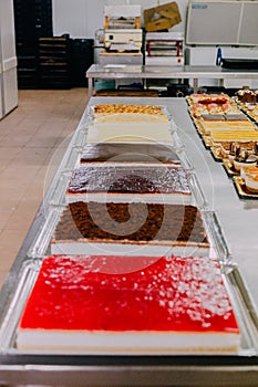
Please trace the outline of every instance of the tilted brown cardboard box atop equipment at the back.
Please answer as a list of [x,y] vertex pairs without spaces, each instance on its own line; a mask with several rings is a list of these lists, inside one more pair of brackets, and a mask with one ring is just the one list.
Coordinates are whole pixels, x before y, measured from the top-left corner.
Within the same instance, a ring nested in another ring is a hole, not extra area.
[[175,1],[144,10],[144,25],[148,32],[168,30],[180,21],[180,12]]

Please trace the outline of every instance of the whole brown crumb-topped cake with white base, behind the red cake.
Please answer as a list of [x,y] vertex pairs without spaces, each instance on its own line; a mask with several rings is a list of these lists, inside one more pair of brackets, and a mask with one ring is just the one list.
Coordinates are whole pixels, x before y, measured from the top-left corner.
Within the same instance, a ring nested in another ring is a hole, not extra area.
[[73,202],[63,210],[52,253],[207,254],[209,240],[194,206]]

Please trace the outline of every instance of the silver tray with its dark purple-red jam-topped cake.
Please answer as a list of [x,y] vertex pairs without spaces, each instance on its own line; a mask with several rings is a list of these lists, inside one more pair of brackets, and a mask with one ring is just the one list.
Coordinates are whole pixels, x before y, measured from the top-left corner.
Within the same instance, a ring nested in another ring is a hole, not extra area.
[[[179,175],[177,175],[178,172]],[[53,197],[50,201],[51,205],[59,206],[72,201],[93,200],[104,202],[141,201],[153,203],[190,203],[198,208],[206,208],[206,206],[208,206],[193,170],[184,169],[178,166],[164,164],[158,167],[156,165],[146,166],[140,164],[136,166],[133,166],[132,164],[130,166],[124,166],[124,164],[114,163],[100,166],[91,163],[89,166],[84,165],[83,168],[80,167],[76,169],[76,174],[80,176],[80,178],[76,179],[76,184],[80,185],[79,191],[69,192],[69,187],[74,177],[74,172],[70,175],[65,174],[64,177],[61,177],[59,186],[56,186],[56,189],[54,190]],[[71,179],[65,180],[65,177],[68,178],[69,176]],[[101,185],[102,188],[97,184],[101,176],[103,177]],[[166,187],[164,186],[163,189],[159,178],[168,180],[167,178],[169,176],[172,180],[171,182],[167,181],[165,185]],[[182,178],[178,179],[179,176],[182,176]],[[146,188],[143,192],[138,191],[137,181],[141,179],[144,180],[143,184]],[[68,180],[70,180],[69,184]],[[173,184],[174,180],[175,185]],[[117,190],[111,189],[111,187],[116,186]],[[120,191],[120,187],[123,186],[126,188]],[[68,190],[65,187],[68,187]],[[155,192],[156,189],[157,191]]]

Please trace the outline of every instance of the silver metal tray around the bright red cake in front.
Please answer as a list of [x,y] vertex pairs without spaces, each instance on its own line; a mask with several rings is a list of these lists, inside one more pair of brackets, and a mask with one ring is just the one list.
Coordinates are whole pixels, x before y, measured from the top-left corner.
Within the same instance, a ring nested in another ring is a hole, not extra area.
[[[21,318],[21,314],[25,302],[29,297],[29,294],[34,285],[37,280],[40,265],[42,263],[42,259],[35,260],[33,262],[27,262],[22,271],[20,273],[20,279],[17,289],[13,292],[13,297],[11,305],[9,307],[9,312],[6,314],[3,318],[3,323],[0,330],[0,347],[2,352],[7,355],[75,355],[74,365],[76,364],[76,358],[84,355],[116,355],[117,352],[110,348],[110,351],[100,352],[97,349],[91,348],[85,352],[76,352],[69,349],[42,349],[42,351],[21,351],[16,346],[17,338],[17,327],[19,321]],[[221,273],[223,280],[227,287],[233,308],[239,325],[240,330],[240,348],[237,353],[238,356],[254,356],[257,355],[257,330],[256,330],[256,321],[252,321],[249,310],[252,307],[250,300],[247,296],[247,290],[245,287],[245,283],[240,276],[238,268],[228,262],[221,264]],[[143,355],[143,353],[138,353],[134,348],[128,348],[130,353],[124,353],[124,355]],[[153,352],[145,352],[144,355],[153,355]],[[159,355],[168,355],[168,353],[159,353]],[[169,356],[173,358],[176,354],[171,354]],[[177,354],[178,355],[178,354]],[[190,354],[185,354],[190,355]],[[198,356],[200,353],[192,353],[192,355]],[[216,355],[216,352],[213,354]],[[230,355],[230,354],[225,354]]]

